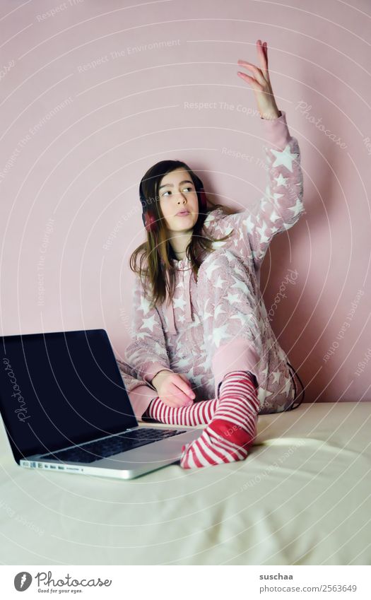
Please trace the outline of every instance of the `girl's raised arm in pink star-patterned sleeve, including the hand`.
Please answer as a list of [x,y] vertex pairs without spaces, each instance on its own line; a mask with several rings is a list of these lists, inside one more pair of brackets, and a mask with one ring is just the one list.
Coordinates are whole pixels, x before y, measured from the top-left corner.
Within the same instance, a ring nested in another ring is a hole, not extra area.
[[213,211],[205,225],[214,237],[234,230],[227,242],[216,242],[215,247],[232,245],[242,259],[252,256],[255,269],[259,270],[273,235],[288,230],[304,212],[303,177],[300,167],[298,140],[290,135],[284,110],[278,110],[269,81],[266,45],[257,42],[261,69],[239,60],[239,64],[251,69],[255,78],[238,72],[251,83],[261,115],[264,138],[264,155],[268,174],[266,189],[259,201],[245,211],[230,216]]

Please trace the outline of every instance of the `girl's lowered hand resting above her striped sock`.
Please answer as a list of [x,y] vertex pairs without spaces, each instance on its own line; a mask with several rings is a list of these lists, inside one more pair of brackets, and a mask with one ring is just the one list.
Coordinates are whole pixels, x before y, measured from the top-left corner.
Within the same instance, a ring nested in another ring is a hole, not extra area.
[[172,373],[171,371],[160,371],[153,377],[152,385],[158,393],[158,397],[167,406],[179,408],[180,406],[191,406],[196,397],[192,387],[183,373]]

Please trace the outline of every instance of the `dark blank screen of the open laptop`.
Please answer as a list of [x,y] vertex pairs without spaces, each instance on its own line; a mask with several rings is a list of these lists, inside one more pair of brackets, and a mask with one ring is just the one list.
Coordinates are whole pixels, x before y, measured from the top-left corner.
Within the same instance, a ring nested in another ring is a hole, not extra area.
[[0,411],[16,461],[138,425],[104,329],[0,343]]

